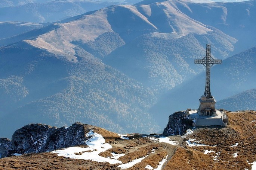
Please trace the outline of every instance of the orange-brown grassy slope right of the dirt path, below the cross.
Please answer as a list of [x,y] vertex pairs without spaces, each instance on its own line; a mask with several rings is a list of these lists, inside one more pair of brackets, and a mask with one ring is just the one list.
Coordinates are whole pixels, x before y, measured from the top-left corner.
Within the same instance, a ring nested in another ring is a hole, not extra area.
[[[189,147],[185,142],[188,138],[185,139],[164,170],[250,170],[249,163],[256,161],[256,122],[253,122],[256,112],[227,112],[227,115],[230,124],[227,128],[205,128],[189,137],[211,146]],[[237,147],[231,147],[236,143]],[[206,150],[213,152],[204,154]],[[238,156],[234,157],[234,153]]]

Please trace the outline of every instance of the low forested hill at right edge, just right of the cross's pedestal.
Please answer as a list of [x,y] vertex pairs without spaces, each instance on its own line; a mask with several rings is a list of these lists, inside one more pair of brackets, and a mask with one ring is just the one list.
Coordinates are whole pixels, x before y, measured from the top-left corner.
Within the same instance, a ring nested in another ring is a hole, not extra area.
[[226,110],[256,110],[256,89],[246,90],[216,103],[218,108]]

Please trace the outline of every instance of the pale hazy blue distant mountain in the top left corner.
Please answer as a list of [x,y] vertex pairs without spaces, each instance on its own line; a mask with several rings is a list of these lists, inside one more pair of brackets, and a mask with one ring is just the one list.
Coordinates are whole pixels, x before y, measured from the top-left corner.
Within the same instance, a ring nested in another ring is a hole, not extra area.
[[113,4],[120,3],[90,0],[56,0],[47,3],[27,3],[20,6],[1,7],[0,21],[54,22]]

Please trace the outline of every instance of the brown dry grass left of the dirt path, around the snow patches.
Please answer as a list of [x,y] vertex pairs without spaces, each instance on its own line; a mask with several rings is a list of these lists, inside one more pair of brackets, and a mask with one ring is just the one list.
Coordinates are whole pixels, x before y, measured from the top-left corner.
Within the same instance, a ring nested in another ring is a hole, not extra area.
[[[91,129],[92,127],[90,127]],[[101,128],[93,129],[97,133],[104,133],[110,139],[116,137],[110,136],[110,133],[106,133]],[[97,131],[98,130],[98,131]],[[89,131],[89,130],[88,130]],[[102,134],[103,135],[103,134]],[[130,140],[116,138],[115,141],[109,142],[113,146],[111,149],[100,153],[103,157],[112,156],[111,153],[124,153],[123,157],[119,160],[123,163],[128,163],[136,158],[146,157],[141,163],[129,168],[130,170],[144,169],[147,165],[156,168],[161,160],[166,158],[166,155],[172,155],[176,146],[161,143],[158,144],[149,138],[141,137],[141,135],[132,136]],[[154,153],[152,150],[154,149]],[[169,153],[168,153],[168,152]],[[76,153],[83,154],[83,153]],[[115,170],[119,164],[110,163],[98,163],[89,160],[78,160],[65,158],[62,156],[56,156],[53,153],[40,153],[40,154],[24,154],[21,156],[13,156],[0,159],[0,170],[18,169],[18,170],[52,170],[52,169],[70,169],[70,170]]]

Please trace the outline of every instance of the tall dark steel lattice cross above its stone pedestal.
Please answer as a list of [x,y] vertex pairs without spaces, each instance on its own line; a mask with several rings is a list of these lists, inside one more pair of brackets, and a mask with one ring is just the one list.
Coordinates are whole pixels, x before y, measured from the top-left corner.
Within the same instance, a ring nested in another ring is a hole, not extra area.
[[213,64],[222,64],[222,60],[215,60],[211,57],[211,45],[206,45],[206,56],[202,60],[195,60],[195,64],[203,64],[206,67],[206,81],[204,95],[207,99],[212,98],[210,90],[210,68]]

